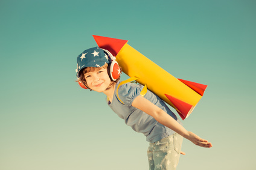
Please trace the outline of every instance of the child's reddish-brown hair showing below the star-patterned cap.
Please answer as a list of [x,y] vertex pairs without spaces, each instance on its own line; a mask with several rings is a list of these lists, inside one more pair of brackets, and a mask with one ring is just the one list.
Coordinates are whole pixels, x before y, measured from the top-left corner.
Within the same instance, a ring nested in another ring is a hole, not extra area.
[[[106,63],[106,64],[104,64],[102,67],[86,67],[86,68],[83,68],[81,71],[80,71],[80,73],[79,73],[79,77],[78,77],[78,79],[77,79],[77,82],[79,82],[79,81],[81,81],[87,88],[89,88],[88,87],[88,84],[87,84],[87,82],[86,82],[86,80],[85,80],[85,74],[86,73],[89,73],[89,72],[91,72],[91,71],[95,71],[95,70],[100,70],[101,68],[106,68],[107,70],[108,70],[108,64]],[[121,75],[121,72],[122,72],[122,68],[120,67],[120,75]],[[108,73],[109,74],[109,73]],[[111,80],[111,79],[110,79]],[[117,80],[111,80],[111,82],[110,82],[110,84],[109,84],[109,87],[108,88],[110,88],[110,87],[112,87],[112,85],[114,85],[114,83],[117,83],[118,82],[118,80],[120,80],[120,76],[118,77],[118,79]]]

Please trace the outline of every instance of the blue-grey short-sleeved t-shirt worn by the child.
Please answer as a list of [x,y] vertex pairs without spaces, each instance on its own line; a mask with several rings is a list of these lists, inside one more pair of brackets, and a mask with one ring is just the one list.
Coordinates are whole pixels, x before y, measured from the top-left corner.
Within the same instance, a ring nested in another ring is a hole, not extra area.
[[[115,86],[115,93],[113,96],[112,103],[107,100],[109,107],[120,117],[122,118],[127,126],[132,127],[133,130],[139,133],[143,133],[148,142],[154,143],[161,139],[164,139],[173,133],[173,130],[168,127],[163,126],[158,123],[152,116],[142,112],[141,110],[132,106],[133,100],[139,96],[141,93],[143,85],[135,83],[124,83],[118,88],[118,84]],[[118,89],[117,89],[118,88]],[[123,102],[120,102],[117,97]],[[147,93],[144,96],[147,100],[161,108],[163,111],[167,112],[168,115],[174,118],[181,124],[181,121],[178,120],[176,115],[165,105],[165,103],[152,91],[147,90]]]

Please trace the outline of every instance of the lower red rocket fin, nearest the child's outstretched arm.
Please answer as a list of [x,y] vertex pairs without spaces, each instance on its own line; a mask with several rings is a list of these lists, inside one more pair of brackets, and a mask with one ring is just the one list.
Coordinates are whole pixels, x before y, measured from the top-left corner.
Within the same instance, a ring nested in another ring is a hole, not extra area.
[[176,111],[181,116],[182,120],[188,117],[191,109],[193,109],[192,105],[185,103],[179,99],[176,99],[175,97],[172,97],[168,94],[164,94],[164,95],[170,100],[171,103],[173,103],[173,105],[176,108]]

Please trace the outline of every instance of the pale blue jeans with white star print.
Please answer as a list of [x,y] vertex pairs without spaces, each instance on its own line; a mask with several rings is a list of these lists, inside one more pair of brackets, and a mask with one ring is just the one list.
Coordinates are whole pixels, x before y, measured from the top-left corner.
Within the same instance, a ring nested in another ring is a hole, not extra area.
[[181,155],[183,137],[178,133],[149,144],[147,156],[150,170],[175,170]]

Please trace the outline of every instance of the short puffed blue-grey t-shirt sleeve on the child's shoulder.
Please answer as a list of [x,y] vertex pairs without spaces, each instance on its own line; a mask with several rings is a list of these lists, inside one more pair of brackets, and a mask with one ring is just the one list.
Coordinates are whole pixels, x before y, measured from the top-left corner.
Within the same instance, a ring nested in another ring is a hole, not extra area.
[[125,83],[119,87],[117,93],[124,105],[132,106],[133,100],[140,95],[142,88],[142,85]]

